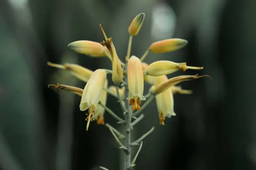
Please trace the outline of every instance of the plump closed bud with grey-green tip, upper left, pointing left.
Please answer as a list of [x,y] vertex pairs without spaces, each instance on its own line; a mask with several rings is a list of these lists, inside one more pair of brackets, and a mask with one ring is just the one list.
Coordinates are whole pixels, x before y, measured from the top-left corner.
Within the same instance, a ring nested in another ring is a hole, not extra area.
[[90,54],[92,56],[105,56],[104,55],[104,47],[99,42],[80,40],[69,43],[68,47],[70,47],[75,52],[81,54]]

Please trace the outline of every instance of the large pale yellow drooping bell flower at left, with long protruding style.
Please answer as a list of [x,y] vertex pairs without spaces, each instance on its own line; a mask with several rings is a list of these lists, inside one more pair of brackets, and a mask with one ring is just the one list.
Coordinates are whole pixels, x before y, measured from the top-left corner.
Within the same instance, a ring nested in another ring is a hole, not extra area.
[[90,121],[94,120],[95,110],[100,101],[102,88],[106,80],[107,73],[105,70],[97,69],[84,87],[79,107],[81,111],[89,109],[89,114],[87,113],[88,117],[86,118],[88,120],[86,130],[89,128]]

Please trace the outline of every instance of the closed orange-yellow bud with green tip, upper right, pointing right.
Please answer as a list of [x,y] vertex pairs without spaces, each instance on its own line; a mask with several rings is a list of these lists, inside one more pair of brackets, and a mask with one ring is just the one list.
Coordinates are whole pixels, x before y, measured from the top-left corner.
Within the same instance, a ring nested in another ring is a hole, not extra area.
[[186,45],[187,45],[187,40],[172,38],[172,39],[154,42],[153,44],[151,44],[148,50],[154,53],[171,52],[171,51],[179,50],[182,47],[185,47]]

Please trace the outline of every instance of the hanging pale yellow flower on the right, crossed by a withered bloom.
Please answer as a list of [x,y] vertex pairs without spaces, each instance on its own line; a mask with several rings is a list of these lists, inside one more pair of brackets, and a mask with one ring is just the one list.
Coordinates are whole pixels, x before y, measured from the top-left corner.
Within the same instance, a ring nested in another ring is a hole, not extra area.
[[[156,77],[154,85],[158,86],[159,84],[167,80],[168,78],[166,77],[166,75]],[[166,91],[156,95],[156,106],[159,113],[159,120],[161,125],[164,125],[164,120],[166,116],[171,117],[176,115],[174,112],[174,100],[171,89],[167,89]]]

